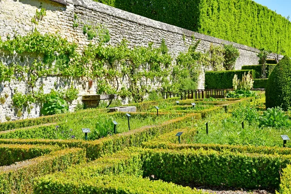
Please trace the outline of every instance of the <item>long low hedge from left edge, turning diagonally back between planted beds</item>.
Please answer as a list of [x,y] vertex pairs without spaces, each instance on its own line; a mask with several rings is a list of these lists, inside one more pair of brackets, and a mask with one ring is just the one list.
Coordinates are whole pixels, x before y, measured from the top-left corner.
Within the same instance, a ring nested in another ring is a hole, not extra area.
[[[212,110],[212,111],[216,111]],[[209,111],[208,113],[211,113]],[[176,119],[162,123],[159,126],[148,126],[139,129],[130,130],[129,132],[119,133],[110,137],[101,138],[95,141],[81,140],[25,140],[25,139],[0,139],[0,144],[44,144],[58,145],[67,147],[81,147],[86,149],[86,157],[95,160],[102,155],[112,154],[128,146],[141,146],[142,142],[149,141],[154,137],[172,130],[193,123],[193,119],[200,119],[200,113],[191,113]]]

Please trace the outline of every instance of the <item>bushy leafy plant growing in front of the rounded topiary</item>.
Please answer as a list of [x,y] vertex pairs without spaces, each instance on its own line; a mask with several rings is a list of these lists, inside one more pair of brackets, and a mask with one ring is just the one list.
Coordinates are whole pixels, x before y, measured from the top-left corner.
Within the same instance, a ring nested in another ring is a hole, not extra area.
[[288,128],[290,126],[291,121],[288,115],[279,107],[269,108],[259,117],[259,127]]

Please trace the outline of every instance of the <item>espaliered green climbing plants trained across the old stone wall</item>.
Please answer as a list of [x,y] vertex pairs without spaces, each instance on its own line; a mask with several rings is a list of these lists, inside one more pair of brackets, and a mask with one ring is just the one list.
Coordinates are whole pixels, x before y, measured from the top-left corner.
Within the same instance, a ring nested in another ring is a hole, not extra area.
[[[88,34],[92,29],[86,25],[84,33]],[[209,65],[217,55],[215,52],[197,52],[200,41],[193,37],[188,51],[180,53],[174,61],[163,39],[159,48],[149,43],[148,47],[129,49],[126,40],[117,46],[106,44],[110,40],[108,30],[102,26],[94,29],[97,37],[93,38],[97,39],[97,44],[90,43],[82,53],[77,51],[77,44],[59,35],[41,34],[36,30],[26,36],[16,35],[0,41],[0,51],[21,62],[0,63],[0,82],[24,81],[29,94],[16,92],[14,106],[21,110],[31,103],[43,104],[49,97],[65,98],[67,101],[77,98],[79,91],[72,86],[67,91],[52,91],[46,95],[42,87],[36,88],[37,81],[48,76],[93,79],[97,82],[98,94],[116,93],[120,97],[131,97],[136,102],[144,100],[146,93],[153,90],[152,85],[164,91],[187,89],[185,87],[193,89],[197,86],[200,67]],[[24,63],[28,59],[33,59],[33,62]]]

